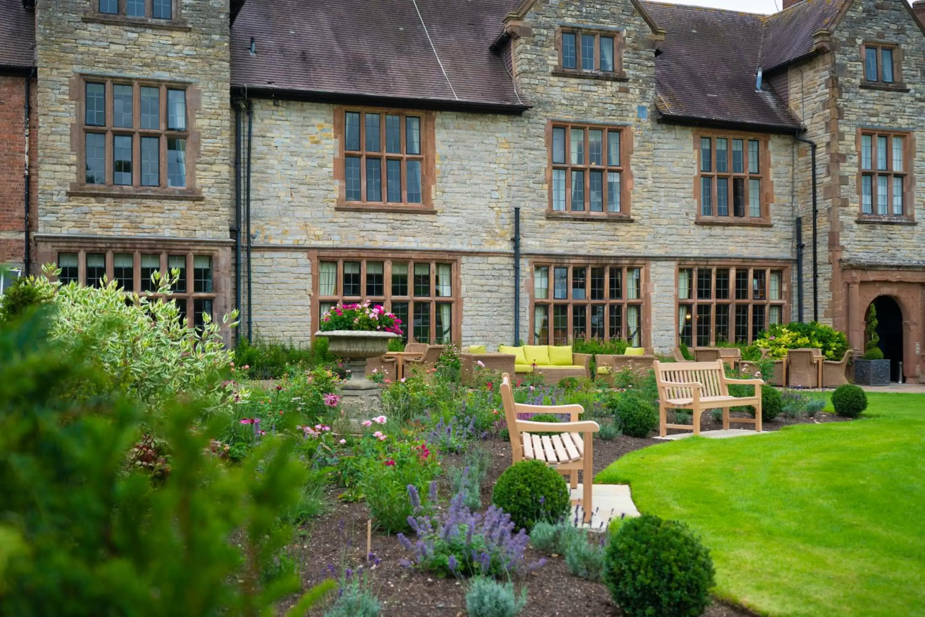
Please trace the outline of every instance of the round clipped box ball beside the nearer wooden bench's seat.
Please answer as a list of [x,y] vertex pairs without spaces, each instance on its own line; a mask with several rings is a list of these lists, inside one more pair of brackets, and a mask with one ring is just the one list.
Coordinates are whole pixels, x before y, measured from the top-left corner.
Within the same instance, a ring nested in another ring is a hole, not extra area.
[[565,479],[539,461],[508,467],[495,483],[491,502],[511,514],[517,528],[527,533],[540,521],[558,522],[568,516],[571,501]]

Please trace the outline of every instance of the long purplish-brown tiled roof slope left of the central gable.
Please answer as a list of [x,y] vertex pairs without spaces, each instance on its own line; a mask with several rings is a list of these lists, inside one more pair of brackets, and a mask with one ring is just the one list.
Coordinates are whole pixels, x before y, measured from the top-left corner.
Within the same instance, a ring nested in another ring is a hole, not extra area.
[[231,31],[232,85],[521,109],[489,50],[518,4],[248,0]]

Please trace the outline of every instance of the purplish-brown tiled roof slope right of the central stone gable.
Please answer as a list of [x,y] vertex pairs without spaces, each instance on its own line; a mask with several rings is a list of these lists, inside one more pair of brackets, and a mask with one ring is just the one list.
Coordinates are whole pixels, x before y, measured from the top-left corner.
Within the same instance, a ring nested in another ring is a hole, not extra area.
[[796,120],[766,84],[756,91],[765,17],[698,6],[644,3],[666,31],[655,63],[663,117],[796,130]]

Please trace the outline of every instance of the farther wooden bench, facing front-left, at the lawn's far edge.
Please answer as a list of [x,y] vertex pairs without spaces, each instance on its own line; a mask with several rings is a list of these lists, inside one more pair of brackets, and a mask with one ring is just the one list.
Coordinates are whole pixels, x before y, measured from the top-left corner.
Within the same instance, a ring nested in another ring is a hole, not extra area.
[[[659,387],[659,434],[665,437],[669,428],[694,430],[700,434],[700,415],[704,410],[722,409],[722,428],[729,428],[730,422],[741,422],[755,426],[761,431],[761,379],[732,379],[726,376],[722,360],[715,362],[652,363],[655,381]],[[750,397],[729,395],[729,385],[753,385],[755,394]],[[729,408],[739,405],[753,405],[754,418],[730,418]],[[689,409],[694,414],[694,426],[670,425],[667,421],[669,409]]]

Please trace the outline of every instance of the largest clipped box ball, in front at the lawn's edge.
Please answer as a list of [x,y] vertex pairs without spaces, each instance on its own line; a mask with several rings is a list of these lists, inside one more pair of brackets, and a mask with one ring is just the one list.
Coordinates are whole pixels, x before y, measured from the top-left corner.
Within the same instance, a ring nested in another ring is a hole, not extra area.
[[684,523],[643,514],[611,535],[604,582],[627,615],[695,617],[709,605],[713,561]]

